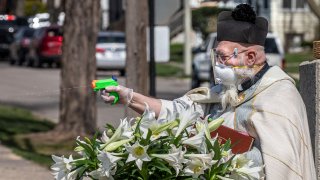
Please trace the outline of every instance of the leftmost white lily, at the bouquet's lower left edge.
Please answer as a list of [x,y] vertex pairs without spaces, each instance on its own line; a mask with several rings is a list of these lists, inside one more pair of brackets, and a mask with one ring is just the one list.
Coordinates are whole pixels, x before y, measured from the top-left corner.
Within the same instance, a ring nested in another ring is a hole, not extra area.
[[51,156],[55,164],[51,166],[51,170],[53,170],[54,178],[57,180],[68,180],[72,178],[76,178],[76,174],[71,172],[73,166],[73,158],[72,155],[69,158],[64,158],[64,156],[58,157],[55,155]]

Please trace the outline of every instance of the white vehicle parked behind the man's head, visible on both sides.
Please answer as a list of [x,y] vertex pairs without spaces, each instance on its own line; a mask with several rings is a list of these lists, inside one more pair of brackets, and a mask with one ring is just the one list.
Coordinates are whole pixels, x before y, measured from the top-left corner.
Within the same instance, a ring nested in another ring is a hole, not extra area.
[[[192,62],[191,88],[199,87],[202,82],[210,81],[210,73],[212,72],[210,51],[217,44],[216,37],[217,33],[211,33],[206,41],[194,50],[195,54]],[[280,39],[276,35],[268,33],[265,42],[265,52],[267,62],[270,66],[279,66],[284,68],[284,50]]]

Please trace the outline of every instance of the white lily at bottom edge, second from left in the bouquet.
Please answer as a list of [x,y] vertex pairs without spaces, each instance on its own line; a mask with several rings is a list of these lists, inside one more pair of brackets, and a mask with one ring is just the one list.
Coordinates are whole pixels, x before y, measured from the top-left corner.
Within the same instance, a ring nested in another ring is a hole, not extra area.
[[90,173],[94,178],[101,179],[107,177],[113,179],[112,176],[117,171],[117,162],[121,160],[121,157],[117,157],[108,152],[101,152],[98,156],[101,162],[101,166]]

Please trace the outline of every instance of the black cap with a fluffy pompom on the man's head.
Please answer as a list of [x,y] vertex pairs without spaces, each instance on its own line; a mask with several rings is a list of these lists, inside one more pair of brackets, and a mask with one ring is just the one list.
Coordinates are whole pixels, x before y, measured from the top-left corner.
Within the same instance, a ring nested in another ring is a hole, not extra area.
[[217,40],[264,46],[268,21],[257,17],[248,4],[239,4],[233,11],[223,11],[218,16]]

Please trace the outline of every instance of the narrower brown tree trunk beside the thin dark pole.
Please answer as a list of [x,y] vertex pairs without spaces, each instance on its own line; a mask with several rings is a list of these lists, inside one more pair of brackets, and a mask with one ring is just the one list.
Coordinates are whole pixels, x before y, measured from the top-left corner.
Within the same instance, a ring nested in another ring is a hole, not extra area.
[[[126,1],[126,86],[135,92],[148,94],[148,62],[146,29],[148,1]],[[135,116],[128,110],[127,116]]]

